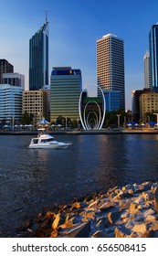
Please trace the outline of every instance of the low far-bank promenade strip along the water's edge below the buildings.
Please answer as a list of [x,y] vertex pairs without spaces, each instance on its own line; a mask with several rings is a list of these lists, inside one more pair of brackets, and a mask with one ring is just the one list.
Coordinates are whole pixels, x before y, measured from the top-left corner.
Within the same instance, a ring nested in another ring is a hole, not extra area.
[[[114,130],[50,130],[50,134],[86,135],[86,134],[158,134],[158,129],[114,129]],[[0,135],[36,135],[36,130],[31,131],[0,131]]]

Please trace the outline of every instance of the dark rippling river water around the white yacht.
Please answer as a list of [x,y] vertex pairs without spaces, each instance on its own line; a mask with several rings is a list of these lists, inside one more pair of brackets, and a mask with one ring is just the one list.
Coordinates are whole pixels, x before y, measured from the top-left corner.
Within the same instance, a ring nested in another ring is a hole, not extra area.
[[32,136],[0,135],[0,236],[27,219],[117,185],[158,180],[158,135],[57,135],[66,150],[28,149]]

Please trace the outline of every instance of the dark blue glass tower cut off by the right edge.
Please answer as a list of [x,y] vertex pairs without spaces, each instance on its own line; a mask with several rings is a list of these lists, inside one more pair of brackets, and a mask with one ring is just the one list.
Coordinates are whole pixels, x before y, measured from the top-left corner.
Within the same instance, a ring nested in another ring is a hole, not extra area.
[[158,92],[158,24],[153,25],[149,33],[149,51],[152,91]]

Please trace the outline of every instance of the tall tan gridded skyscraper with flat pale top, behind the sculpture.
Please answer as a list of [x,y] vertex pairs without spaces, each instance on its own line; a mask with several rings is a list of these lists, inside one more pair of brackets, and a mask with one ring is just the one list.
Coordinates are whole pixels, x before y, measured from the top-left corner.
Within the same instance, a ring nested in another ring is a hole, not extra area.
[[97,40],[97,83],[102,90],[121,91],[120,107],[125,109],[124,44],[121,38],[108,34]]

